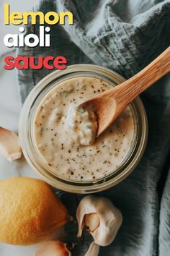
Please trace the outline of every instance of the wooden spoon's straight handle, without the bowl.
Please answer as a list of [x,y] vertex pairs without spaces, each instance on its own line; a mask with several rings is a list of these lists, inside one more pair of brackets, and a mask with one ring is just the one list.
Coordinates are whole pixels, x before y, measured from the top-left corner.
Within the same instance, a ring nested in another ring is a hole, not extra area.
[[[117,104],[128,105],[135,97],[170,72],[170,47],[148,64],[138,74],[115,87],[110,97],[116,98]],[[111,93],[111,90],[110,90]]]

